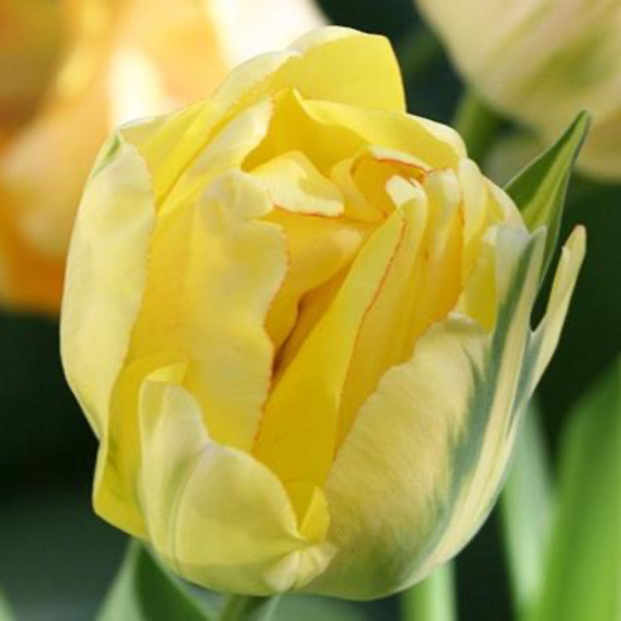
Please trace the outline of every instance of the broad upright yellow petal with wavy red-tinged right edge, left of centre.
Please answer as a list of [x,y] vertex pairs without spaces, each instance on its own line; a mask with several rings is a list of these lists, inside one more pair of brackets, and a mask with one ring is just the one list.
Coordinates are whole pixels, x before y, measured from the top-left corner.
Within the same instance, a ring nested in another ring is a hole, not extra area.
[[261,221],[270,209],[256,181],[235,172],[201,201],[160,214],[128,359],[181,357],[209,435],[243,450],[270,384],[265,320],[286,273],[283,233]]

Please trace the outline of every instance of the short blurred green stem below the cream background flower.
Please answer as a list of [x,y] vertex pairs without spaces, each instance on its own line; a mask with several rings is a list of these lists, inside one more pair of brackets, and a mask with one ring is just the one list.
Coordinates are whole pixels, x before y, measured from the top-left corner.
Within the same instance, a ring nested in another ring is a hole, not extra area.
[[471,90],[465,91],[455,113],[453,127],[466,143],[469,157],[479,165],[494,143],[496,132],[501,125],[502,117],[478,94]]

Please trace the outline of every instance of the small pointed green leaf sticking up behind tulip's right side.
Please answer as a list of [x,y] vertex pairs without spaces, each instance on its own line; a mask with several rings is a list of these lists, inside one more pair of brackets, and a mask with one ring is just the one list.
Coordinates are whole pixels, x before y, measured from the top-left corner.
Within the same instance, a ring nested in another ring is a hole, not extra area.
[[547,228],[542,278],[556,248],[569,178],[586,138],[590,118],[588,112],[580,112],[555,145],[505,186],[507,194],[522,212],[528,229]]

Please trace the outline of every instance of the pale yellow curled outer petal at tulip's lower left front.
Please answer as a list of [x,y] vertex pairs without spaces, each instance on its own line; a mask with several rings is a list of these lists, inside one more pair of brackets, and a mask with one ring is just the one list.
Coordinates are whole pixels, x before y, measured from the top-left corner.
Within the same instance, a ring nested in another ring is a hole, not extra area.
[[300,532],[279,479],[214,443],[183,388],[156,376],[145,383],[140,435],[148,537],[179,574],[220,591],[266,595],[325,568],[331,547]]

